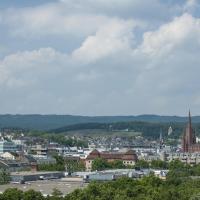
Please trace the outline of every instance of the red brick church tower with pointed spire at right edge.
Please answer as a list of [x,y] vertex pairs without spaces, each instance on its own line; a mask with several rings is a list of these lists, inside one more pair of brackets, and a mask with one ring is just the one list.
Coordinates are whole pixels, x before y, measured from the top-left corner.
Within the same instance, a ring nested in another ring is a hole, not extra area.
[[186,129],[183,135],[183,139],[182,139],[182,150],[184,152],[194,152],[195,149],[199,150],[199,148],[197,148],[197,146],[199,145],[195,145],[195,144],[196,144],[196,136],[192,128],[192,120],[191,120],[191,115],[189,111],[189,120],[188,120]]

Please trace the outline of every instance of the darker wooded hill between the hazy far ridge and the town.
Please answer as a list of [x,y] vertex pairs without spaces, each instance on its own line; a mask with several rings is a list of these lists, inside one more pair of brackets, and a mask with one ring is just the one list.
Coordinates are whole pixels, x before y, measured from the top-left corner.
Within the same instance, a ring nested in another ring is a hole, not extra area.
[[[168,129],[172,127],[173,134],[171,138],[177,139],[183,134],[183,130],[185,129],[186,123],[179,123],[179,122],[171,122],[171,123],[164,123],[164,122],[116,122],[116,123],[87,123],[87,124],[76,124],[70,125],[66,127],[62,127],[51,132],[54,133],[67,133],[69,131],[77,131],[79,132],[82,130],[103,130],[111,135],[112,132],[120,131],[120,130],[129,130],[135,132],[141,132],[143,136],[157,139],[159,138],[160,131],[162,130],[163,136],[168,137]],[[200,133],[200,123],[193,124],[194,129],[196,130],[197,135]],[[92,133],[91,133],[92,135]]]

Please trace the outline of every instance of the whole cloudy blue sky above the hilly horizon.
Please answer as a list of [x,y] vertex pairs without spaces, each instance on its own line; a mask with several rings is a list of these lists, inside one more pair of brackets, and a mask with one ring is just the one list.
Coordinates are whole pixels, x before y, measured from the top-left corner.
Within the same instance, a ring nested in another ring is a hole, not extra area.
[[0,114],[200,115],[199,0],[0,0]]

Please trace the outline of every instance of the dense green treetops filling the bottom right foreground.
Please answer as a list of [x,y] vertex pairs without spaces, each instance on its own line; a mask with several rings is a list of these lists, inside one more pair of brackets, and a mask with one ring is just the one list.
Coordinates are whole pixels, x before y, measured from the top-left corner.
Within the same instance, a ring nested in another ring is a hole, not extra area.
[[200,193],[200,180],[160,180],[153,175],[141,180],[122,178],[106,183],[91,183],[76,190],[66,200],[189,200]]

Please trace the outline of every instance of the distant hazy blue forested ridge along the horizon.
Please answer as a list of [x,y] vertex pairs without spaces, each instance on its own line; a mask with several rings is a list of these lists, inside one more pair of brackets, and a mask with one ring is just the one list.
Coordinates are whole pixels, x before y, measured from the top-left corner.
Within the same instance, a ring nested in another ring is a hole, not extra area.
[[[139,115],[139,116],[73,116],[73,115],[0,115],[0,128],[18,127],[23,129],[50,130],[83,123],[114,122],[186,122],[187,117]],[[192,117],[193,123],[200,122],[200,116]]]

